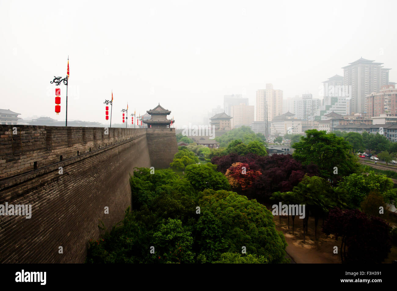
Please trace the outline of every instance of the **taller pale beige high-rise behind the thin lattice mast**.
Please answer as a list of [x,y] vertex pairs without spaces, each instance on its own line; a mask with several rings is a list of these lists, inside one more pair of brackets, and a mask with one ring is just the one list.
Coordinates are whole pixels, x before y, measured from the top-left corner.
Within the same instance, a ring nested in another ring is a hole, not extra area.
[[283,111],[283,91],[274,90],[272,84],[266,84],[266,89],[256,91],[256,121],[265,120],[265,104],[268,121],[281,115]]

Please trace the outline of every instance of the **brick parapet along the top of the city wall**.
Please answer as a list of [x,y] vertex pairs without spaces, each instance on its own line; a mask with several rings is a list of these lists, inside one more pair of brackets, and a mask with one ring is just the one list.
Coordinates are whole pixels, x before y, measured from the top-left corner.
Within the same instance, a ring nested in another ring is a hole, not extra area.
[[146,134],[139,128],[112,127],[108,134],[105,129],[0,125],[0,182]]

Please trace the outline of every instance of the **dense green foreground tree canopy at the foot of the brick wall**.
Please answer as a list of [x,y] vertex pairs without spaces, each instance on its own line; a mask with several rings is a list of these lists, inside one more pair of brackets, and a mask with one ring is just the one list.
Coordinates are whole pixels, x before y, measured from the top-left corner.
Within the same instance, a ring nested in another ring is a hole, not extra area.
[[[198,175],[215,171],[211,164],[188,167]],[[90,241],[88,263],[285,262],[284,236],[256,200],[225,190],[200,192],[170,169],[138,168],[130,183],[133,210],[102,239]]]

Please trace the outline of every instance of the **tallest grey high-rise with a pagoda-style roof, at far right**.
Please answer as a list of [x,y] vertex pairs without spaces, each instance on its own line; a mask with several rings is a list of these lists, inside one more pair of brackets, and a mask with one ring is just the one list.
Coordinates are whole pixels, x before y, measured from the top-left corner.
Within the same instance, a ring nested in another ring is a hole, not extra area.
[[365,96],[379,93],[383,85],[389,84],[389,70],[383,63],[358,59],[343,69],[343,85],[351,86],[350,114],[365,112]]

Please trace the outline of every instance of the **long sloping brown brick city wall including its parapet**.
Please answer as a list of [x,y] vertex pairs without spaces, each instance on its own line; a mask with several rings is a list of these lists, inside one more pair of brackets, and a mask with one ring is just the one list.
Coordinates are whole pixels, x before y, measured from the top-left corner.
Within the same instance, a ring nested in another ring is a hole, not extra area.
[[[32,205],[30,219],[0,216],[0,262],[84,262],[87,241],[100,235],[100,220],[110,228],[131,205],[133,168],[170,162],[169,150],[162,156],[154,149],[159,140],[154,132],[148,135],[150,145],[146,129],[104,132],[23,125],[13,135],[12,125],[0,125],[0,204]],[[158,156],[150,161],[149,152]],[[104,214],[105,206],[109,214]]]

